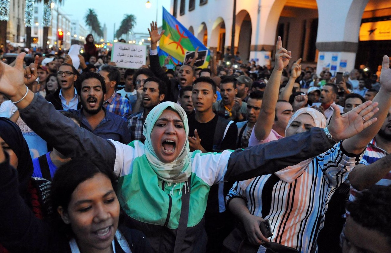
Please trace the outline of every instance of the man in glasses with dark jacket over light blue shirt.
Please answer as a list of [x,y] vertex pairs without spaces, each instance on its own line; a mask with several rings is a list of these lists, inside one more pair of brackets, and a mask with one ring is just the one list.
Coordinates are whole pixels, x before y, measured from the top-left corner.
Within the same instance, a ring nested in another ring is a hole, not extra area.
[[79,72],[74,66],[64,63],[57,71],[57,81],[60,86],[56,92],[49,94],[45,99],[52,103],[56,110],[68,111],[70,109],[80,109],[80,102],[77,97],[77,91],[74,82]]

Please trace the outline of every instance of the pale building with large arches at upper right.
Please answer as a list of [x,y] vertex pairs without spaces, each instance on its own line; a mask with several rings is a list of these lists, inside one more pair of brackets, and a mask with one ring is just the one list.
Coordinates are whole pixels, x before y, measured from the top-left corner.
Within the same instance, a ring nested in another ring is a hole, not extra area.
[[[233,37],[242,60],[260,65],[269,64],[279,35],[294,59],[303,58],[303,65],[316,64],[318,73],[325,67],[332,73],[350,71],[361,64],[374,69],[381,64],[378,55],[391,53],[391,38],[380,35],[380,30],[391,30],[389,0],[237,0],[235,16],[233,3],[171,0],[170,13],[209,48],[225,53]],[[359,40],[362,24],[372,29],[361,33],[375,29],[378,36]]]

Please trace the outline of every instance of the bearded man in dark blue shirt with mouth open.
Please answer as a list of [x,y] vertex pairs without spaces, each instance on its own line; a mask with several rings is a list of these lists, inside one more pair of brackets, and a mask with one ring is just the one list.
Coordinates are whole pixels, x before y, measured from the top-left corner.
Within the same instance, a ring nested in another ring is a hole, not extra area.
[[81,110],[68,110],[79,118],[80,126],[106,140],[131,142],[126,121],[102,106],[106,94],[104,79],[97,73],[84,72],[76,81]]

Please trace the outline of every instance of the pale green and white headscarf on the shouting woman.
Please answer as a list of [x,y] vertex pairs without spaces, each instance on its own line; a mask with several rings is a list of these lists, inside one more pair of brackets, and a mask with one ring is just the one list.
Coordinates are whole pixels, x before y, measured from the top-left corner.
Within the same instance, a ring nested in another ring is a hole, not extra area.
[[[152,129],[159,119],[161,113],[167,108],[171,108],[176,111],[183,121],[183,126],[186,132],[185,145],[183,147],[176,147],[177,149],[182,148],[179,156],[171,163],[163,163],[159,160],[158,156],[152,147],[151,133]],[[191,161],[189,157],[189,142],[187,139],[189,133],[188,121],[186,112],[176,103],[163,102],[155,106],[145,119],[143,126],[143,135],[145,136],[144,152],[147,156],[148,162],[152,169],[158,175],[158,178],[165,182],[178,183],[185,182],[191,174]]]

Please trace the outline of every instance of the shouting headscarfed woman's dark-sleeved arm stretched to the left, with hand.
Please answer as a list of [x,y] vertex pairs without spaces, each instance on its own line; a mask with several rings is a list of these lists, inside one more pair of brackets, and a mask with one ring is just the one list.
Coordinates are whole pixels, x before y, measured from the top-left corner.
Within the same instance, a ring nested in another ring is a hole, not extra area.
[[[43,97],[34,96],[27,89],[23,83],[24,55],[18,55],[15,67],[0,62],[0,92],[15,102],[23,121],[61,154],[89,157],[114,168],[116,154],[113,143],[78,127]],[[38,61],[30,66],[31,71],[36,71],[37,64]]]

